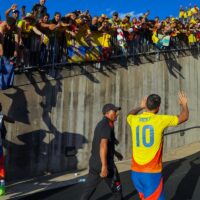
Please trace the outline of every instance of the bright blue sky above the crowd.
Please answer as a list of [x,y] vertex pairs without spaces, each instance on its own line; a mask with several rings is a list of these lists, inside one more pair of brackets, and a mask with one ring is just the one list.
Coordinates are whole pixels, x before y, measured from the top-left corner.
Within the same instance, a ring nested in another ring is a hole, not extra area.
[[[4,12],[13,3],[18,4],[20,8],[26,5],[27,12],[30,12],[32,6],[39,0],[0,0],[0,14],[4,19]],[[102,13],[111,16],[113,11],[118,11],[122,16],[126,13],[140,15],[147,10],[151,11],[149,18],[160,16],[178,16],[180,5],[188,6],[195,3],[200,7],[199,0],[47,0],[46,6],[51,17],[55,11],[66,14],[73,10],[89,9],[92,15],[101,15]]]

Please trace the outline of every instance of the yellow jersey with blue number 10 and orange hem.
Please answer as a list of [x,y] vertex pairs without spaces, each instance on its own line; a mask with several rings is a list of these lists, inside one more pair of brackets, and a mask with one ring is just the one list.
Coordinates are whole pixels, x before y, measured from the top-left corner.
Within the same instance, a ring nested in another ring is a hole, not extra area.
[[178,125],[178,117],[144,112],[128,115],[127,121],[132,131],[132,170],[161,172],[163,131]]

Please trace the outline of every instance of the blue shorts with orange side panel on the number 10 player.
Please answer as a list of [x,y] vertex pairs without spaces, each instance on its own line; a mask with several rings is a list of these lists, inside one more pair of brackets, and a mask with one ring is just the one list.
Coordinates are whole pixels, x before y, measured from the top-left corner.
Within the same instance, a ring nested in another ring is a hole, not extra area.
[[163,178],[161,173],[131,173],[132,182],[142,200],[164,200]]

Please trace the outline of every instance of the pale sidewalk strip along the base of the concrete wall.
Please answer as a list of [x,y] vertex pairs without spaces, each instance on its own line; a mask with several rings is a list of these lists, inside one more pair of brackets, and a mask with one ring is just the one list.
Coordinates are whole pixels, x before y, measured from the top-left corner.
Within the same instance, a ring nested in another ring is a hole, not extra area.
[[[177,160],[183,157],[187,157],[200,151],[200,143],[194,143],[181,148],[175,149],[164,155],[163,161]],[[131,160],[117,162],[119,172],[128,171],[130,169]],[[52,190],[68,185],[76,184],[79,180],[87,174],[87,170],[78,172],[67,172],[53,175],[46,175],[37,177],[30,180],[24,180],[20,182],[10,183],[7,186],[7,195],[1,197],[1,200],[18,199],[29,194]]]

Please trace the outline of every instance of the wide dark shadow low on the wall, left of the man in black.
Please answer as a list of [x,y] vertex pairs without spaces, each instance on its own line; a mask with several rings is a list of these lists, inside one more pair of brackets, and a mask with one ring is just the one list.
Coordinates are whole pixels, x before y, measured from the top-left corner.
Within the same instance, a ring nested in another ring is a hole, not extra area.
[[16,139],[17,143],[4,142],[8,181],[77,169],[78,150],[87,143],[82,134],[43,129],[20,134]]

